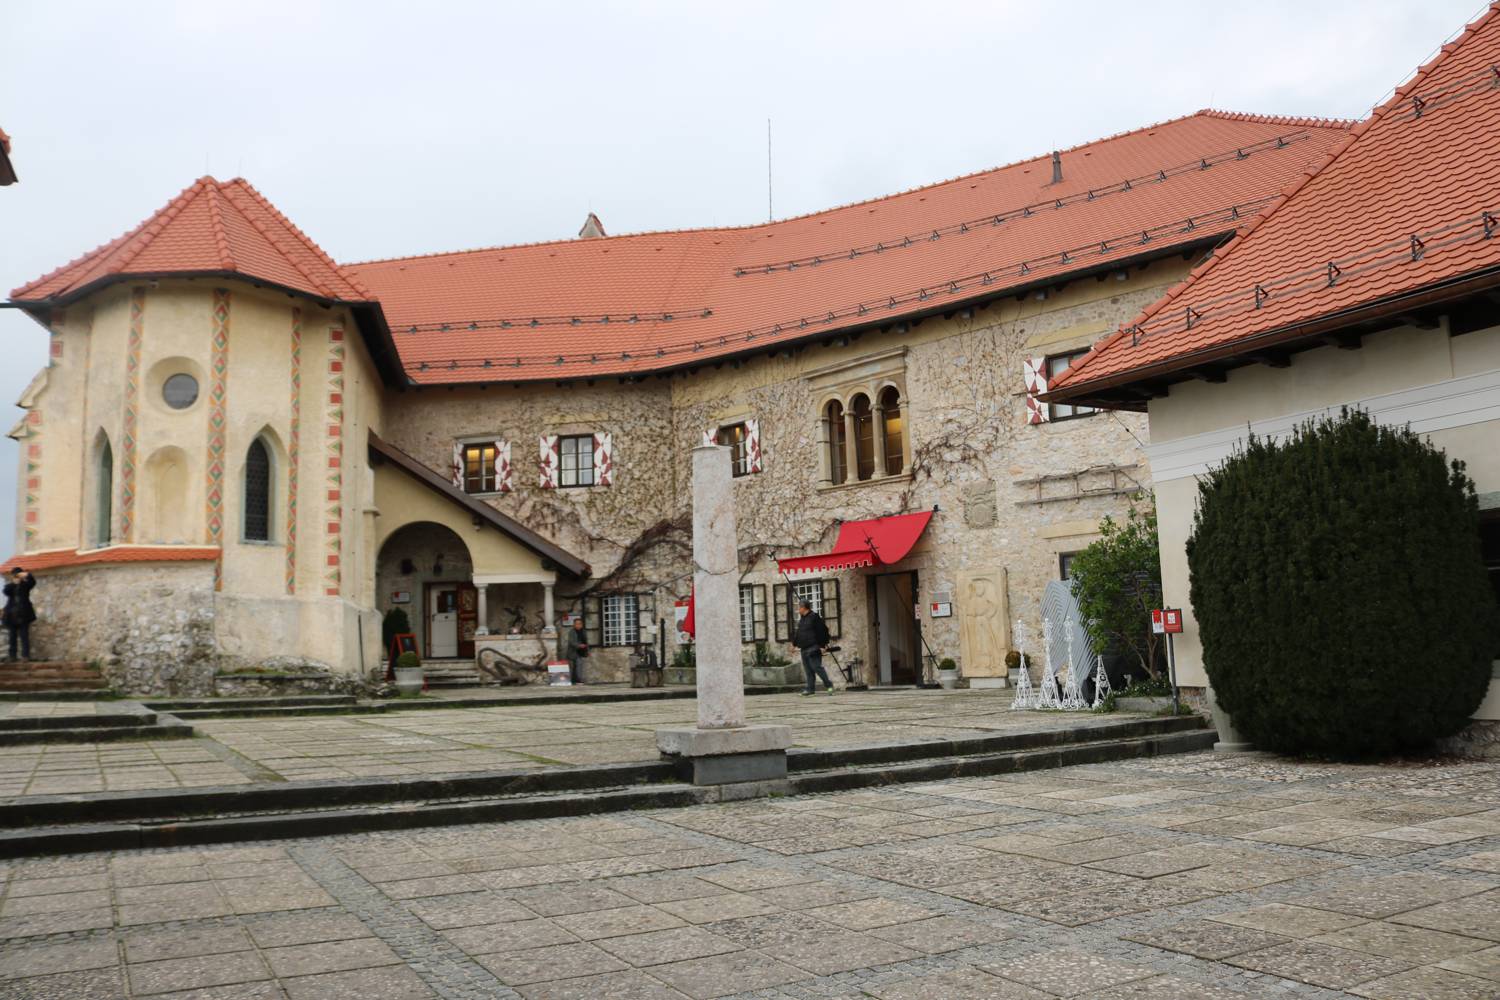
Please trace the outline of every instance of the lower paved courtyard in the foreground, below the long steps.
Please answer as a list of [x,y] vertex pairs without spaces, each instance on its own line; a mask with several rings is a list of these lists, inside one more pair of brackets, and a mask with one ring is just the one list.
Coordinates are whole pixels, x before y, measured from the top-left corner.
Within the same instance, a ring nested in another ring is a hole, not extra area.
[[1203,753],[0,880],[0,997],[1500,996],[1494,763]]

